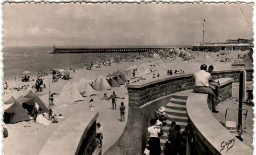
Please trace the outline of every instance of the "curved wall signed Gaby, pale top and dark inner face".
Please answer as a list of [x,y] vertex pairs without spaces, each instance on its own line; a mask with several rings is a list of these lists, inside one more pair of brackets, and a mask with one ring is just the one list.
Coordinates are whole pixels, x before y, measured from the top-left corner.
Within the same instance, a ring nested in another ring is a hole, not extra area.
[[[207,95],[191,93],[187,98],[188,123],[191,125],[191,154],[252,154],[246,146],[230,133],[213,116],[207,106]],[[226,145],[228,143],[228,145]]]

